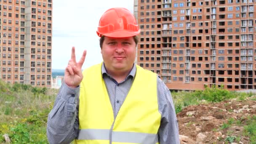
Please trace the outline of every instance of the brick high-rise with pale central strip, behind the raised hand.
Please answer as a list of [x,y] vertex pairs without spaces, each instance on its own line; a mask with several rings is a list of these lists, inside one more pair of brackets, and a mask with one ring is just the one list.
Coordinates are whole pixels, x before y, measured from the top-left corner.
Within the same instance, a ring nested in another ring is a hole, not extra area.
[[52,0],[0,0],[0,79],[51,87]]

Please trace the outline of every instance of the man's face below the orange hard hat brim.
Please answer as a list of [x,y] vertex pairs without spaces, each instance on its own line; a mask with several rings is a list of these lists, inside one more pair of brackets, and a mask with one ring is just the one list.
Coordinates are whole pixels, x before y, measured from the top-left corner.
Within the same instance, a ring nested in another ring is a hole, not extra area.
[[136,43],[133,37],[104,37],[101,54],[108,71],[127,72],[136,57]]

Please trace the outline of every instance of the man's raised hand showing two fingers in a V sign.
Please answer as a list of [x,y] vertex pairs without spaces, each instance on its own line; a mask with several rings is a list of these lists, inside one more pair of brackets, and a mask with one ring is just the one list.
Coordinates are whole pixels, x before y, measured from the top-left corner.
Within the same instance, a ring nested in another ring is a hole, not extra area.
[[65,69],[64,73],[64,82],[70,88],[76,88],[80,85],[83,80],[83,73],[81,67],[83,66],[83,62],[85,61],[86,50],[83,51],[83,56],[80,61],[76,62],[75,59],[75,47],[72,47],[71,59]]

